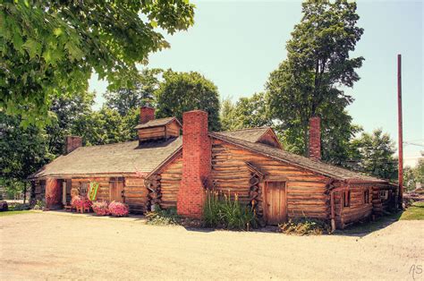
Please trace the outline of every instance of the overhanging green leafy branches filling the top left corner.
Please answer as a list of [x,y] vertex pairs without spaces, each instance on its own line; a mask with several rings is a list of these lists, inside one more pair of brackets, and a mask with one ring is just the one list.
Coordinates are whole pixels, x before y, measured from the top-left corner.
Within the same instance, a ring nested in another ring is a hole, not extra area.
[[22,124],[47,122],[52,98],[87,89],[93,70],[110,89],[131,87],[136,64],[193,24],[194,5],[174,1],[2,1],[0,107]]

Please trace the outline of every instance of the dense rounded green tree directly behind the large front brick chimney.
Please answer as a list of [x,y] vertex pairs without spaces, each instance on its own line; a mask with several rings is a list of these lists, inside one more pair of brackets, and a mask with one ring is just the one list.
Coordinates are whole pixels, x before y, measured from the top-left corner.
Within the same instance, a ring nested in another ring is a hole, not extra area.
[[156,92],[157,117],[175,116],[194,109],[208,112],[209,130],[219,131],[219,94],[212,81],[198,72],[164,72],[164,81]]

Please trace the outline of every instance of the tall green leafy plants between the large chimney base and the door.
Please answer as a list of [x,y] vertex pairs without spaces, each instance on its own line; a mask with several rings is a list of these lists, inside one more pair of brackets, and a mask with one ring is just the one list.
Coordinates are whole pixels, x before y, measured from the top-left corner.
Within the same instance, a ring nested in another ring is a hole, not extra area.
[[206,191],[203,208],[203,222],[207,227],[225,227],[228,229],[249,230],[258,227],[258,219],[254,210],[242,206],[238,194],[219,194],[216,191]]

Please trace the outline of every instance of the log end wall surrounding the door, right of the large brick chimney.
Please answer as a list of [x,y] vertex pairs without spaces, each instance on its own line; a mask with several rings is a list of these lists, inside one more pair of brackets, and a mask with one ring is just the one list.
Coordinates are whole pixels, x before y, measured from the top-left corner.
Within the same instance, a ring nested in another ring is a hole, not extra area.
[[[211,178],[216,189],[237,192],[241,201],[249,203],[250,172],[246,161],[258,166],[266,174],[265,181],[286,182],[289,218],[329,218],[330,203],[329,195],[326,194],[325,176],[315,175],[219,140],[213,140],[212,145]],[[260,183],[259,187],[263,194],[264,183]]]

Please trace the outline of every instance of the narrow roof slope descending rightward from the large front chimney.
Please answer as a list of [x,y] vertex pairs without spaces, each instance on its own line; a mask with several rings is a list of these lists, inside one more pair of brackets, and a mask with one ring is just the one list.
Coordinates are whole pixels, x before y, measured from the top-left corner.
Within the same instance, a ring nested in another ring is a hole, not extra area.
[[221,132],[211,132],[210,135],[221,141],[232,143],[236,146],[240,146],[244,149],[259,153],[269,158],[274,158],[279,161],[283,161],[287,164],[298,166],[311,172],[318,173],[320,175],[326,175],[339,180],[357,180],[364,182],[386,182],[385,180],[378,179],[369,175],[362,175],[360,173],[352,172],[348,169],[344,169],[338,166],[332,166],[324,162],[305,158],[297,154],[293,154],[283,149],[277,149],[274,147],[267,146],[259,142],[246,141],[238,138],[231,138]]

